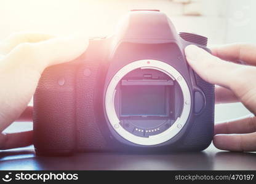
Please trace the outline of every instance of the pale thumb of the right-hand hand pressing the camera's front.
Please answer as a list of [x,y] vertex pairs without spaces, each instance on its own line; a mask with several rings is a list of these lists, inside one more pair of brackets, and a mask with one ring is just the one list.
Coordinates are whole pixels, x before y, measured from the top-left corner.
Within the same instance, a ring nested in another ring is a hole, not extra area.
[[202,79],[230,89],[250,112],[256,114],[256,67],[223,61],[195,45],[188,45],[185,54]]

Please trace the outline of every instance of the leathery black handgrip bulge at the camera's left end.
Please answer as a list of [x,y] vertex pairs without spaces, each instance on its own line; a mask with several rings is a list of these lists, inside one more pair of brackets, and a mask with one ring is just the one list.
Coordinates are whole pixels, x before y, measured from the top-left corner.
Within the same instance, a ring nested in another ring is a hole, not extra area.
[[37,155],[70,155],[76,144],[75,67],[48,67],[34,94],[33,128]]

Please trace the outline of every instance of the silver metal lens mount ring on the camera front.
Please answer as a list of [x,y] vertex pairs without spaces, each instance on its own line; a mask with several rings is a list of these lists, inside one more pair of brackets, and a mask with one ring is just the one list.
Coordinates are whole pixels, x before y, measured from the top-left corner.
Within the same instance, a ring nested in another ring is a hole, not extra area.
[[[177,81],[178,85],[180,85],[180,88],[182,89],[183,94],[183,110],[180,117],[178,117],[174,124],[170,126],[170,128],[166,131],[149,137],[135,136],[134,134],[126,131],[126,129],[122,128],[122,126],[119,125],[120,120],[118,118],[118,115],[116,114],[116,110],[114,107],[114,96],[116,93],[116,86],[118,85],[119,81],[126,74],[138,68],[155,69],[164,72],[170,78]],[[180,72],[178,72],[174,67],[162,61],[154,59],[142,59],[129,63],[126,66],[122,67],[118,72],[116,72],[116,74],[111,79],[108,88],[106,89],[105,112],[106,117],[110,122],[110,125],[121,137],[129,140],[134,144],[157,145],[172,139],[172,137],[176,136],[178,132],[180,132],[180,130],[185,126],[186,121],[188,120],[188,117],[190,115],[190,110],[191,94],[186,80],[183,79],[182,74],[180,74]]]

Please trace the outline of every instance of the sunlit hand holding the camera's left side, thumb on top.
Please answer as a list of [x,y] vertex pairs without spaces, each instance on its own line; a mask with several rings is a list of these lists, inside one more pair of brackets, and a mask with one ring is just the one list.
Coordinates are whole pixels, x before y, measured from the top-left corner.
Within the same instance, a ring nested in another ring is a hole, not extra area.
[[2,131],[17,119],[31,118],[32,107],[27,105],[44,69],[77,58],[87,45],[80,36],[30,33],[14,34],[0,44],[0,150],[32,144],[33,131]]

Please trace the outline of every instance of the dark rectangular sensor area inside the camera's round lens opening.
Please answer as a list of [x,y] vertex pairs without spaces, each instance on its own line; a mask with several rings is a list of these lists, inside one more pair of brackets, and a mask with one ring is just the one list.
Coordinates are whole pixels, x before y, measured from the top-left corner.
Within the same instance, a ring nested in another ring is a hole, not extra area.
[[121,117],[169,115],[169,86],[121,86]]

